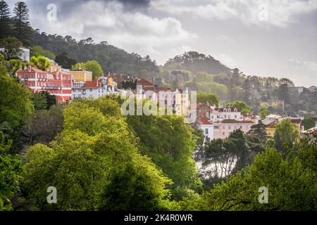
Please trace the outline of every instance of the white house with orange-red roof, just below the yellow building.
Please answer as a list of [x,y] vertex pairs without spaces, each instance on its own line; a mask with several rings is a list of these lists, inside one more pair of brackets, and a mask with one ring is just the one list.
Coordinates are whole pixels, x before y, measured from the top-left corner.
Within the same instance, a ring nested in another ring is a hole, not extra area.
[[108,94],[106,77],[87,82],[76,82],[73,86],[72,98],[99,98]]

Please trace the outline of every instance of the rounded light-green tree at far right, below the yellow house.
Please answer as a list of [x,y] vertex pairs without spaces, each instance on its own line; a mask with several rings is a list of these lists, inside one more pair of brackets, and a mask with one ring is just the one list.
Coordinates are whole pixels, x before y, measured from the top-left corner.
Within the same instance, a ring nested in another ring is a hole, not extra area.
[[276,130],[274,134],[275,147],[278,150],[285,151],[283,144],[292,148],[294,141],[299,138],[299,131],[295,124],[290,119],[285,119],[275,125]]

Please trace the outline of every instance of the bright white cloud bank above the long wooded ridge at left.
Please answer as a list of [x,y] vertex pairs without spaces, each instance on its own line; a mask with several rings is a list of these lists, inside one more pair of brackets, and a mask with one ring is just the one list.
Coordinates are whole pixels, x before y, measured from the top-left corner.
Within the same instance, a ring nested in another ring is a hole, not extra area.
[[51,22],[46,20],[48,10],[43,2],[41,6],[30,6],[31,23],[49,34],[72,35],[76,39],[92,37],[97,42],[105,40],[126,51],[159,57],[163,63],[164,51],[197,39],[197,34],[185,30],[173,17],[157,18],[147,15],[146,11],[126,10],[128,4],[146,6],[148,2],[58,1],[57,20]]

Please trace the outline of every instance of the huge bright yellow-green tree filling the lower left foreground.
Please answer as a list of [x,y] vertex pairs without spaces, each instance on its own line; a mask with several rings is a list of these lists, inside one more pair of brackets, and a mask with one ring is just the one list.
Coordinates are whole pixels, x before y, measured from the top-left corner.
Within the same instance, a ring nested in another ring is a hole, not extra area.
[[[78,101],[63,115],[64,130],[52,147],[37,144],[25,155],[22,187],[33,209],[168,209],[170,181],[138,153],[121,115],[105,115]],[[58,204],[46,203],[42,190],[48,186],[56,187]]]

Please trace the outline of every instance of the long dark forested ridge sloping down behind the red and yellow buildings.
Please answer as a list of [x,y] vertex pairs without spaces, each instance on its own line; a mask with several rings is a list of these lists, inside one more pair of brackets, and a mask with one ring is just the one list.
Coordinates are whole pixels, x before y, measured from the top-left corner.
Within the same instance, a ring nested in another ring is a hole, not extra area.
[[142,58],[137,53],[127,53],[106,41],[99,44],[94,43],[92,38],[77,41],[71,36],[62,37],[57,34],[40,33],[37,30],[33,37],[33,45],[42,46],[56,56],[67,53],[69,58],[78,62],[97,60],[104,72],[134,75],[158,72],[155,60],[151,60],[149,56]]

